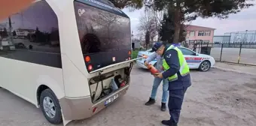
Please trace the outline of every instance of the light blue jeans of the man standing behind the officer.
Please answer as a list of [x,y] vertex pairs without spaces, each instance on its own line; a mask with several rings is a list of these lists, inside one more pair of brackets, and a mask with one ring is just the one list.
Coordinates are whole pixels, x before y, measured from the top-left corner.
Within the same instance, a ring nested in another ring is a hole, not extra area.
[[[158,77],[154,77],[154,84],[153,84],[152,91],[151,91],[151,98],[152,99],[156,99],[157,89],[158,89],[158,86],[160,85],[160,83],[162,82],[162,80],[163,79],[160,79]],[[169,81],[167,79],[163,80],[162,103],[167,102],[167,98],[169,96],[168,87],[169,87]]]

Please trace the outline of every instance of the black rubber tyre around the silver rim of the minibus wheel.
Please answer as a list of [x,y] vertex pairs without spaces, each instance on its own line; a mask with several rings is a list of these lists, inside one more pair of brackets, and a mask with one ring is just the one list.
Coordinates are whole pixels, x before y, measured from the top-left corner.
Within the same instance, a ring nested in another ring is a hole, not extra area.
[[[44,110],[44,98],[50,98],[50,101],[54,104],[54,110],[55,115],[50,118],[47,113]],[[41,111],[44,114],[44,117],[49,121],[51,124],[60,124],[62,123],[62,113],[61,113],[61,107],[59,105],[59,101],[54,95],[53,91],[50,89],[45,89],[43,92],[41,92],[40,95],[40,107]]]

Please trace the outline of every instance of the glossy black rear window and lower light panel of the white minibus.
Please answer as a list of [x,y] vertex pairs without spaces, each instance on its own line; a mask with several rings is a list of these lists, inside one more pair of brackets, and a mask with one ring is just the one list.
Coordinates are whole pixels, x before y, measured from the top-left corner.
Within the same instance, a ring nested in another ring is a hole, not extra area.
[[131,49],[129,17],[79,1],[74,4],[81,49],[84,56],[90,56],[93,70],[128,60]]

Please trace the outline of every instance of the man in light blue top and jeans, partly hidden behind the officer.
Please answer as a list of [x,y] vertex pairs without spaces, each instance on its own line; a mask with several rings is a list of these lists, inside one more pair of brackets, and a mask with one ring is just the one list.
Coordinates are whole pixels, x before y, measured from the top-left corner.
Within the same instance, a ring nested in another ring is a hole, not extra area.
[[[155,43],[154,46],[161,46],[161,43]],[[154,48],[152,48],[154,51]],[[151,62],[152,60],[157,59],[157,71],[163,72],[163,58],[161,55],[158,55],[156,52],[153,52],[151,55],[148,56],[148,58],[146,58],[145,60],[145,65],[148,65],[148,62]],[[153,83],[153,87],[152,87],[152,91],[151,91],[151,97],[149,98],[149,101],[145,104],[147,106],[154,104],[156,101],[156,95],[157,95],[157,89],[158,86],[160,85],[160,83],[163,80],[163,94],[162,94],[162,104],[161,104],[161,110],[162,111],[166,111],[166,102],[167,102],[167,98],[169,95],[168,92],[168,86],[169,86],[169,82],[167,79],[161,79],[158,77],[154,77],[154,83]]]

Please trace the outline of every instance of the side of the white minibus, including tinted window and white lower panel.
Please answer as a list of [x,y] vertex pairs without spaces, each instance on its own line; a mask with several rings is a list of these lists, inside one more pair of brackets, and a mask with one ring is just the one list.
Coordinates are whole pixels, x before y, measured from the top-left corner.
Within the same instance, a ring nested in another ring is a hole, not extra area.
[[32,104],[38,86],[65,96],[58,19],[46,1],[1,21],[0,36],[0,86]]

